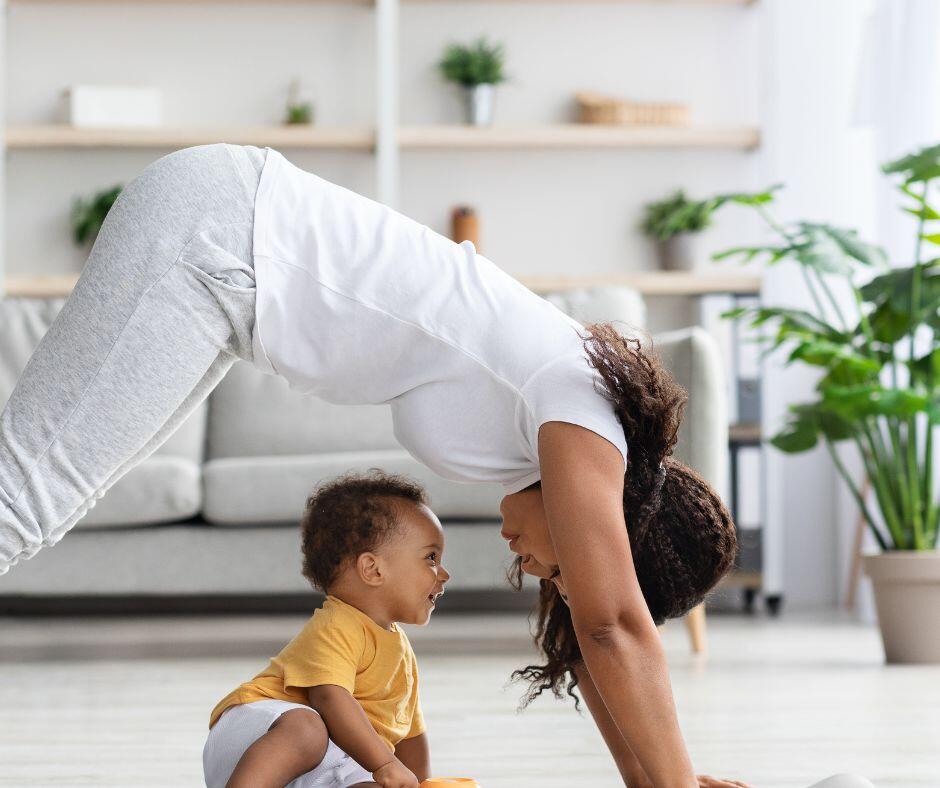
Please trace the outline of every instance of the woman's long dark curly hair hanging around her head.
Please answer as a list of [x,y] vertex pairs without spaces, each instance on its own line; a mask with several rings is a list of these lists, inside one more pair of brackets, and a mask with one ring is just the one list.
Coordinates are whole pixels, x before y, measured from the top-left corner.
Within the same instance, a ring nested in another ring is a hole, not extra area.
[[[627,441],[623,512],[637,579],[656,625],[685,615],[731,568],[737,555],[734,522],[720,496],[698,473],[670,455],[678,439],[685,390],[639,339],[610,323],[586,327],[588,359],[613,402]],[[556,571],[557,574],[557,571]],[[509,581],[522,589],[522,558]],[[512,674],[530,682],[521,708],[550,689],[558,699],[578,684],[582,665],[568,604],[551,580],[540,580],[535,642],[544,665]]]

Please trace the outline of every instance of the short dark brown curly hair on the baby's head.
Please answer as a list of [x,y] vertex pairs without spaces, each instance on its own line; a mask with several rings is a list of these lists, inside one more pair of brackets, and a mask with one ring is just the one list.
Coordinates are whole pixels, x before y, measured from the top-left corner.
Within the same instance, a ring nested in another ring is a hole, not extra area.
[[325,482],[307,498],[301,549],[304,577],[314,587],[329,593],[347,561],[389,541],[397,528],[392,498],[428,502],[420,484],[378,468]]

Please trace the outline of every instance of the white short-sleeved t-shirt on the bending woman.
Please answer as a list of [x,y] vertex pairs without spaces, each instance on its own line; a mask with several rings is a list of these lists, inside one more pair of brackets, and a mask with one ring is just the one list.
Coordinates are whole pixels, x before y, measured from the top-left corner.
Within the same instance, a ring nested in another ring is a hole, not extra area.
[[330,402],[388,403],[439,475],[517,492],[539,427],[623,428],[582,327],[475,252],[268,149],[255,198],[255,363]]

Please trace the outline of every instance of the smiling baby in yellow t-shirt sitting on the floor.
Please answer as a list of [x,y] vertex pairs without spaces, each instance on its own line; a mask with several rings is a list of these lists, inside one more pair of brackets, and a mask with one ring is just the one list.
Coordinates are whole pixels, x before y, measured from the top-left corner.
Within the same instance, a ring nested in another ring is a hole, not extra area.
[[430,773],[414,652],[450,575],[425,491],[378,471],[320,487],[301,519],[303,573],[326,601],[213,709],[209,788],[416,788]]

